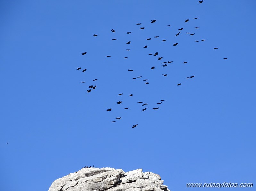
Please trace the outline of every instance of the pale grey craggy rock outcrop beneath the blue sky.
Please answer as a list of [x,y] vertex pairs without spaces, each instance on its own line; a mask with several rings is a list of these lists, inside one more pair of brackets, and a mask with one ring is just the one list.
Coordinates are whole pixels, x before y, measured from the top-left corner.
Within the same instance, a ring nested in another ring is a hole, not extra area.
[[55,180],[48,191],[170,191],[158,174],[142,169],[82,168]]

